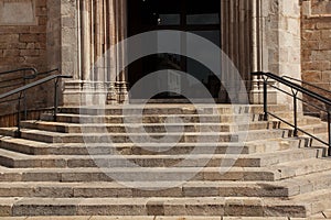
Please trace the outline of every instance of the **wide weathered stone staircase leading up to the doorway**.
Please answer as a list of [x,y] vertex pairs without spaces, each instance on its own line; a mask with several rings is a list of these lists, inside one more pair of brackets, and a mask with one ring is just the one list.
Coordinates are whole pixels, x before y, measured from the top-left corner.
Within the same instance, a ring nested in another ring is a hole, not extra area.
[[[287,116],[286,106],[271,111]],[[0,216],[309,217],[331,160],[260,106],[65,107],[0,129]],[[323,134],[327,124],[299,124]]]

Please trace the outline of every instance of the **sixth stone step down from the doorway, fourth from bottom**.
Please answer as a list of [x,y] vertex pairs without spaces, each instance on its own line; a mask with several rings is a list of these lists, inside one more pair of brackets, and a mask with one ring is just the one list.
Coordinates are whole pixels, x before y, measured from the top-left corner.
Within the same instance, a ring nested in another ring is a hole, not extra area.
[[113,152],[109,155],[26,155],[0,148],[0,165],[10,168],[51,168],[51,167],[126,167],[130,162],[141,167],[263,167],[293,160],[307,160],[317,156],[317,148],[290,150],[278,154],[200,154],[192,152],[189,155],[118,155]]

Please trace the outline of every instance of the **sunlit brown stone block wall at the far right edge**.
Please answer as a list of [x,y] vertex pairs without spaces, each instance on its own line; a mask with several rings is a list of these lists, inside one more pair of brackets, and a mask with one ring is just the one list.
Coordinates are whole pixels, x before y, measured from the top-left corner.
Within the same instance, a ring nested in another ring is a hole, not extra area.
[[[331,2],[302,1],[301,28],[302,79],[331,91]],[[328,92],[308,88],[331,98]],[[323,107],[314,100],[308,101]],[[320,113],[319,110],[308,107],[306,111]]]

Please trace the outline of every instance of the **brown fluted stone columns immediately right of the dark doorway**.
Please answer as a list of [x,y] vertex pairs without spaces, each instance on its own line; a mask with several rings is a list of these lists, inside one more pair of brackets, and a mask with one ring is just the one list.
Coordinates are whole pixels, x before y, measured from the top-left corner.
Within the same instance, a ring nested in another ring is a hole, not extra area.
[[[246,90],[238,88],[238,80],[244,80],[244,85],[249,90],[252,72],[252,18],[253,18],[253,1],[254,0],[223,0],[221,1],[221,34],[222,34],[222,50],[231,58],[241,78],[234,78],[235,74],[229,69],[223,68],[222,84],[227,85],[228,91],[221,88],[220,101],[224,102],[228,95],[231,101],[241,102],[241,94],[238,90]],[[227,64],[232,65],[232,64]],[[245,91],[245,97],[246,97]],[[229,100],[227,100],[229,101]]]

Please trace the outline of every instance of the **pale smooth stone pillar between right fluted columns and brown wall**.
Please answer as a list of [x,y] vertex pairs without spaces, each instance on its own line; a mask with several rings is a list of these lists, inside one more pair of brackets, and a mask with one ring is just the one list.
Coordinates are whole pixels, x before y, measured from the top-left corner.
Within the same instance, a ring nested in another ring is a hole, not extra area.
[[[255,3],[254,70],[270,72],[278,76],[287,75],[300,79],[299,1],[256,0]],[[261,103],[263,80],[254,78],[253,82],[252,102]],[[270,103],[291,103],[290,97],[271,88],[269,89],[268,98]]]

